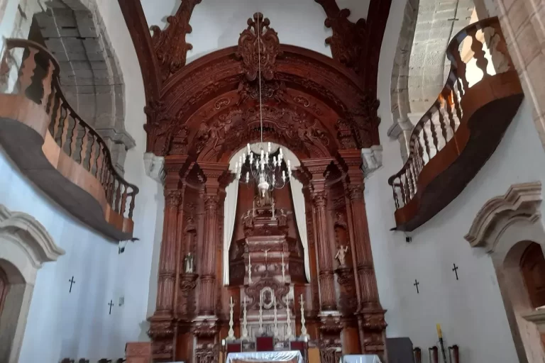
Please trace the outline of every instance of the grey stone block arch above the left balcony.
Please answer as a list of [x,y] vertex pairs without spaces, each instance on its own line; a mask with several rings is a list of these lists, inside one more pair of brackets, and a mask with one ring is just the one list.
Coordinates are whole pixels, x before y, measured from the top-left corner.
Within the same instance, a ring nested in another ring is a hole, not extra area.
[[127,150],[135,141],[125,129],[121,68],[94,1],[48,1],[32,18],[28,39],[53,53],[60,85],[70,106],[108,144],[123,174]]

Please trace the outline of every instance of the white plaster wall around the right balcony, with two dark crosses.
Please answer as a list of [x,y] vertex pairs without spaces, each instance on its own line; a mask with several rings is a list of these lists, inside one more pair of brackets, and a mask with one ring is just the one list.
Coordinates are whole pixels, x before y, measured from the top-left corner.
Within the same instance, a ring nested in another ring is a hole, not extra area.
[[[395,226],[392,189],[387,178],[401,167],[395,140],[387,138],[392,123],[390,77],[400,31],[404,1],[394,0],[378,75],[380,140],[384,167],[366,180],[370,239],[382,306],[387,309],[388,337],[410,337],[424,351],[438,341],[436,323],[443,328],[447,345],[457,344],[461,361],[517,362],[505,308],[492,261],[482,250],[463,239],[481,206],[505,194],[510,184],[545,180],[545,162],[532,123],[532,110],[524,101],[505,137],[483,169],[458,198],[410,233],[407,244]],[[446,186],[448,187],[448,186]],[[458,267],[459,280],[452,271]],[[414,279],[420,282],[417,291]]]

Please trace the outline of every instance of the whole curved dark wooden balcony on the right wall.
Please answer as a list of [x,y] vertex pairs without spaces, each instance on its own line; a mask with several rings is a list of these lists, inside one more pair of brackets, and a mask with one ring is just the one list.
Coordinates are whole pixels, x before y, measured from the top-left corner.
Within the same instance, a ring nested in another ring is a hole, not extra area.
[[396,230],[418,228],[463,191],[522,103],[522,87],[497,18],[461,30],[446,55],[451,69],[444,89],[414,126],[407,162],[388,179]]

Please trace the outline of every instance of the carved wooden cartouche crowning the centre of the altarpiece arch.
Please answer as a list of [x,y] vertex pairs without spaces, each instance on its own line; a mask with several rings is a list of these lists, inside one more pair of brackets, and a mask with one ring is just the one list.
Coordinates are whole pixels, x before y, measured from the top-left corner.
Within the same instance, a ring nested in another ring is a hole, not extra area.
[[255,13],[253,19],[248,18],[248,28],[238,38],[235,55],[242,59],[248,81],[258,77],[259,67],[264,79],[270,81],[275,76],[275,60],[282,51],[278,34],[269,26],[268,18],[263,18],[262,13]]

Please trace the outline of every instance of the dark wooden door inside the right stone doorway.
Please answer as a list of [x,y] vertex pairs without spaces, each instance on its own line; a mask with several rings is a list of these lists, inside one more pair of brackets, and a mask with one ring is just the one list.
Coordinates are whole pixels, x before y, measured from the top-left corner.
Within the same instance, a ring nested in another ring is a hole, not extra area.
[[532,242],[522,254],[520,269],[532,307],[545,306],[545,257],[541,246]]

